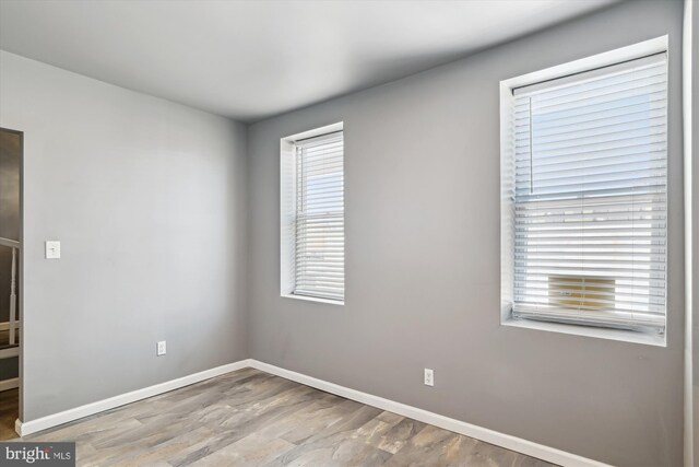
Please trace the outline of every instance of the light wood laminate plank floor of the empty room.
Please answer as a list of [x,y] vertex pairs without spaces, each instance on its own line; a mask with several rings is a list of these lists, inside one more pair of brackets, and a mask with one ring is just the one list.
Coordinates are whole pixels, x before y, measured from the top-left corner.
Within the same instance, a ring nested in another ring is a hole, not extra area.
[[81,466],[549,466],[245,369],[31,435]]

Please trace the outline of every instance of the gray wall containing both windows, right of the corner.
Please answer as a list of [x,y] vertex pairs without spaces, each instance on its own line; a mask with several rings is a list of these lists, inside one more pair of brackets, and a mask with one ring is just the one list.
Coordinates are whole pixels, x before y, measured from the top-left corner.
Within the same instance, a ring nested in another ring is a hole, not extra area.
[[[252,358],[614,465],[682,465],[682,13],[680,1],[623,3],[251,126]],[[664,34],[667,348],[501,327],[499,81]],[[280,138],[335,121],[346,302],[282,299]]]

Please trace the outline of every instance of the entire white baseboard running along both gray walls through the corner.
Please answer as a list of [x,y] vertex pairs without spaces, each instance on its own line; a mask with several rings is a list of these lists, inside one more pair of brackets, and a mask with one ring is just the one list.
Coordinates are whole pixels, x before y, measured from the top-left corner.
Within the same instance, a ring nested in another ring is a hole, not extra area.
[[123,406],[126,404],[135,402],[137,400],[145,399],[147,397],[157,396],[158,394],[178,389],[190,384],[199,383],[201,381],[245,367],[253,367],[276,376],[284,377],[286,380],[295,381],[297,383],[324,390],[327,393],[335,394],[337,396],[356,400],[368,406],[377,407],[382,410],[388,410],[403,417],[419,420],[435,427],[443,428],[445,430],[453,431],[454,433],[475,437],[476,440],[485,441],[486,443],[495,444],[496,446],[526,454],[529,456],[547,460],[549,463],[570,467],[608,467],[607,464],[592,460],[576,454],[556,450],[554,447],[548,447],[543,444],[523,440],[521,437],[500,433],[487,428],[477,427],[475,424],[466,423],[461,420],[440,416],[438,413],[418,409],[417,407],[412,407],[405,404],[396,402],[394,400],[384,399],[382,397],[374,396],[360,390],[351,389],[345,386],[340,386],[339,384],[329,383],[323,380],[318,380],[316,377],[307,376],[301,373],[284,370],[282,367],[252,359],[241,360],[239,362],[229,363],[227,365],[217,366],[211,370],[205,370],[203,372],[194,373],[189,376],[171,380],[165,383],[145,387],[143,389],[138,389],[131,393],[110,397],[108,399],[98,400],[96,402],[54,413],[40,419],[29,420],[25,423],[23,423],[21,420],[16,420],[15,431],[21,436],[26,436],[28,434],[36,433],[42,430],[47,430],[59,424],[68,423],[83,417],[92,416],[105,410],[112,409],[115,407]]

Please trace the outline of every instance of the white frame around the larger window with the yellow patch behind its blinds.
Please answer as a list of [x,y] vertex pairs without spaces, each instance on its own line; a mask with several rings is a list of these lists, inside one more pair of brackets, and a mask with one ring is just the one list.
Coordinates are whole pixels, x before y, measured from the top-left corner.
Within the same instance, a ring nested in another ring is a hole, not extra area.
[[[661,36],[628,47],[618,48],[604,54],[594,55],[580,60],[570,61],[564,65],[546,68],[544,70],[523,74],[500,81],[500,325],[519,328],[538,329],[578,336],[588,336],[603,339],[621,340],[628,342],[645,343],[652,346],[666,346],[667,322],[670,316],[667,311],[670,304],[666,302],[665,331],[643,332],[638,330],[615,329],[607,327],[592,327],[581,324],[564,322],[543,322],[526,318],[516,318],[512,316],[513,304],[513,275],[514,275],[514,202],[509,197],[511,180],[514,174],[511,173],[511,164],[514,157],[514,150],[511,144],[510,133],[512,131],[512,112],[514,105],[514,90],[518,87],[535,85],[545,81],[557,80],[568,75],[592,71],[599,68],[614,66],[628,60],[643,58],[645,56],[667,52],[668,36]],[[667,59],[670,61],[670,58]],[[668,71],[670,73],[670,71]],[[670,84],[668,84],[670,85]],[[670,198],[667,198],[670,203]],[[667,237],[670,237],[670,225]],[[666,256],[670,261],[670,255]],[[670,299],[668,295],[666,295]]]

